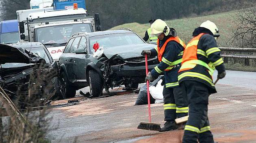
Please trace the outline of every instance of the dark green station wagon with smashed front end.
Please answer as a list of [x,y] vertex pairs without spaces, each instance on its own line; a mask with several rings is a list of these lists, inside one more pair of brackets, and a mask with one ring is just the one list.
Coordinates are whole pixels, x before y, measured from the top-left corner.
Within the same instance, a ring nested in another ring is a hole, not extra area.
[[[66,97],[90,86],[91,97],[98,97],[105,88],[124,85],[136,89],[145,80],[145,58],[142,50],[156,45],[147,44],[131,30],[78,33],[69,39],[59,59]],[[149,70],[158,64],[157,57],[148,59]]]

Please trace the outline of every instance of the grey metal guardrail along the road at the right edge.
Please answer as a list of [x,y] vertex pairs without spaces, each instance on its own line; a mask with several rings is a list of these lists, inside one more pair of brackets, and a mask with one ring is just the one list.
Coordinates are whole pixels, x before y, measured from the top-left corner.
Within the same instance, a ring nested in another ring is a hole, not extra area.
[[240,58],[240,59],[256,59],[256,48],[226,48],[221,49],[221,57]]

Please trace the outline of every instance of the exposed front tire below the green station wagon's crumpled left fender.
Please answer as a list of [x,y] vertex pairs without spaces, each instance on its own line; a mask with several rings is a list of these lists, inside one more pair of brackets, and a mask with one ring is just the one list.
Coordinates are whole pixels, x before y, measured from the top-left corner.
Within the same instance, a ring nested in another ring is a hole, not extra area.
[[92,97],[99,97],[102,95],[103,81],[97,71],[93,69],[89,71],[88,84],[90,86],[90,94]]

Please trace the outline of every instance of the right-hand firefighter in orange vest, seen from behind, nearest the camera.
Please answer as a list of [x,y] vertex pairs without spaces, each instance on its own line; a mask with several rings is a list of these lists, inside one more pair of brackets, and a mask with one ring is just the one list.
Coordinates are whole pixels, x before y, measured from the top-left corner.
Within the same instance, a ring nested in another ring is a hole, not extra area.
[[214,143],[208,120],[208,97],[216,93],[213,71],[218,79],[226,75],[221,50],[216,38],[219,31],[215,23],[205,21],[193,32],[182,57],[178,80],[189,104],[189,120],[185,126],[182,143]]

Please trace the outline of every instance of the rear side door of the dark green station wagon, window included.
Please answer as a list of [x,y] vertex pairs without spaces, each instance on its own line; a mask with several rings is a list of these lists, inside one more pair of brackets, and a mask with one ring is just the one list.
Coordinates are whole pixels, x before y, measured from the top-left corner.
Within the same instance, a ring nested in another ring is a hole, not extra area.
[[76,49],[78,48],[79,41],[81,36],[75,37],[74,42],[70,46],[70,51],[66,55],[66,69],[67,69],[67,76],[69,78],[69,82],[74,83],[75,80],[78,78],[76,75],[76,69],[78,68],[78,63],[76,61]]

